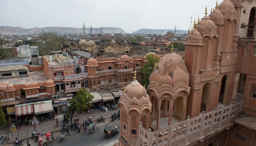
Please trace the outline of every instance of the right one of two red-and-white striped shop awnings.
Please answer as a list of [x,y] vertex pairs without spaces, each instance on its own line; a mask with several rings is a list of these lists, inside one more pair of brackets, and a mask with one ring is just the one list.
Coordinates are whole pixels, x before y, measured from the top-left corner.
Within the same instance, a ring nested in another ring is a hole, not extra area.
[[53,111],[52,102],[34,104],[35,114]]

